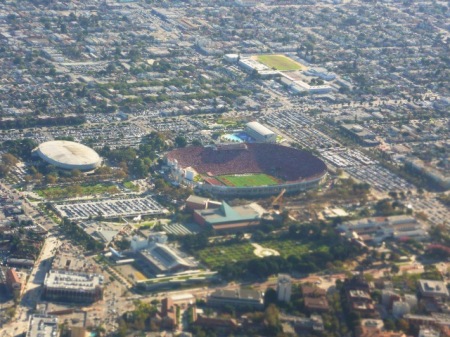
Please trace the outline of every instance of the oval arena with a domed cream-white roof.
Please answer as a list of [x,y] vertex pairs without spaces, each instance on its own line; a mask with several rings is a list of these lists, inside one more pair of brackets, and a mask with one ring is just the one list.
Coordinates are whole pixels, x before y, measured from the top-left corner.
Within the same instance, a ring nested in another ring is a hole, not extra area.
[[93,149],[66,140],[42,143],[35,153],[47,163],[67,170],[93,170],[101,164],[100,156]]

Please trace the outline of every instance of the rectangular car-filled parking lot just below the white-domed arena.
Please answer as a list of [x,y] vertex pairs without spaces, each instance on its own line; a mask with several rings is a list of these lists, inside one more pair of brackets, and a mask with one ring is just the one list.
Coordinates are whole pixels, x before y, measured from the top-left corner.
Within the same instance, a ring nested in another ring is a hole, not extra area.
[[157,215],[166,212],[151,197],[55,204],[54,207],[62,217],[68,217],[70,220],[88,219],[99,215],[105,218],[116,218]]

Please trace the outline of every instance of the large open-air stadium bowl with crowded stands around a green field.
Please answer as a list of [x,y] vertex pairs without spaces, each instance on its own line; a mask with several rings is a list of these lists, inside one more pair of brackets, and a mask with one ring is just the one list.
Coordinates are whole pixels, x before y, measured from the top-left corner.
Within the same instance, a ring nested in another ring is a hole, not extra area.
[[296,193],[318,186],[327,174],[311,153],[270,143],[180,148],[166,162],[175,181],[222,197]]

